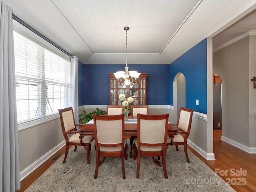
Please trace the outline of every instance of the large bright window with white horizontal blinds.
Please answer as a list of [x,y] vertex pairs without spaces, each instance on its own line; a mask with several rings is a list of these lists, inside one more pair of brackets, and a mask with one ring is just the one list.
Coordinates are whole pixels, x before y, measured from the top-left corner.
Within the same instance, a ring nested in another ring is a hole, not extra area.
[[71,64],[14,31],[18,124],[70,106]]

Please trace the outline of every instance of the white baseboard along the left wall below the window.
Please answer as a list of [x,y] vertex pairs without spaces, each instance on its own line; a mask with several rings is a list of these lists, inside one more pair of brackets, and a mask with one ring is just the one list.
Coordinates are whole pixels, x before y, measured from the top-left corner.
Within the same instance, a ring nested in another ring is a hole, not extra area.
[[26,178],[26,176],[28,176],[30,173],[32,173],[34,170],[36,170],[36,168],[38,168],[42,163],[44,163],[48,158],[50,158],[54,153],[56,153],[60,148],[65,146],[65,144],[66,144],[65,140],[62,141],[60,144],[58,144],[56,147],[54,147],[48,153],[44,154],[44,156],[40,157],[33,164],[31,164],[26,169],[24,169],[22,172],[20,172],[20,181],[22,181],[24,178]]

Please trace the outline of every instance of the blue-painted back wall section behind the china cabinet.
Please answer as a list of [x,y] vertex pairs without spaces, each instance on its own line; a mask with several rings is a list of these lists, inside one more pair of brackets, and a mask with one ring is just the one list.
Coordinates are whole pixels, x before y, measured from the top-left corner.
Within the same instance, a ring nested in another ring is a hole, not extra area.
[[[147,73],[147,104],[169,105],[170,65],[128,64],[129,70]],[[82,105],[108,105],[110,103],[109,73],[124,71],[125,64],[78,64],[78,100]]]

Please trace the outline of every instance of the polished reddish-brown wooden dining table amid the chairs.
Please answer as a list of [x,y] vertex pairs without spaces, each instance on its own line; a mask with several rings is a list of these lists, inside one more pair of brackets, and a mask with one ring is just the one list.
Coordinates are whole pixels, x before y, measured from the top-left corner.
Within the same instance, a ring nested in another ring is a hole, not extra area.
[[[124,122],[124,136],[125,138],[130,138],[130,136],[137,136],[137,118],[128,118],[128,121]],[[80,142],[82,142],[82,138],[84,138],[85,135],[94,135],[94,121],[93,119],[84,124],[84,126],[81,126],[79,128],[80,132]],[[176,124],[168,123],[168,136],[170,138],[174,138],[174,135],[178,135],[179,129],[177,128]],[[132,157],[132,156],[130,156]],[[153,157],[154,162],[158,166],[162,166],[162,163],[160,163],[156,157]]]

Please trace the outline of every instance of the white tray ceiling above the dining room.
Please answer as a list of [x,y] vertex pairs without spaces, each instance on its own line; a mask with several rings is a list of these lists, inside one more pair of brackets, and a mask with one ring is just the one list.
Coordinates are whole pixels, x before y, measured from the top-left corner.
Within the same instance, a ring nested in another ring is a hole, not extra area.
[[[84,64],[170,64],[206,37],[213,49],[256,30],[255,0],[3,0]],[[248,17],[246,17],[248,15]]]

